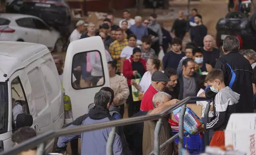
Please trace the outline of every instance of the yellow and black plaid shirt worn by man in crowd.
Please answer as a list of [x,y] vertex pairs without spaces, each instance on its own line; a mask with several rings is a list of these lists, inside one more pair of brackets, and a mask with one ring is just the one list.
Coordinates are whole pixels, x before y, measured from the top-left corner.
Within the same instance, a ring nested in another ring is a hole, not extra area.
[[109,53],[112,59],[117,59],[117,70],[120,71],[121,61],[120,61],[120,54],[124,47],[128,46],[128,40],[124,39],[122,43],[119,43],[117,40],[112,42],[109,46]]

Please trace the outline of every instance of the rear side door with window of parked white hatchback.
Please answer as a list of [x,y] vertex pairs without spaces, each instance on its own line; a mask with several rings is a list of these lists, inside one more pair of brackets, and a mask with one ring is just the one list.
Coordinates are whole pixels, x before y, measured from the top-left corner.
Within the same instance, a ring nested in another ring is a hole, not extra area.
[[19,26],[16,30],[16,34],[19,36],[20,40],[38,43],[38,32],[31,18],[16,19],[16,23]]

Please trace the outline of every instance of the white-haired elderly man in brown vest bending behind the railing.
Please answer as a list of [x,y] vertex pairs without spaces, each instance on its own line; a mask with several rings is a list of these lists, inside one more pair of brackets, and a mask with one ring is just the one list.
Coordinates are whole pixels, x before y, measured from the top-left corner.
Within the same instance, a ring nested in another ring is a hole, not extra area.
[[[153,105],[154,108],[159,108],[160,106],[163,106],[165,103],[169,102],[171,100],[171,95],[165,93],[165,92],[158,92],[153,96]],[[147,115],[151,114],[150,110]],[[168,139],[170,139],[173,136],[173,132],[171,129],[171,126],[168,122],[168,116],[165,116],[162,118],[162,126],[159,133],[159,144],[163,144]],[[153,121],[145,121],[144,122],[144,130],[143,130],[143,140],[142,140],[142,149],[143,149],[143,155],[148,155],[151,151],[154,150],[154,131],[157,124],[157,120]],[[173,154],[174,149],[174,143],[168,144],[165,146],[165,149],[161,150],[161,155],[171,155]]]

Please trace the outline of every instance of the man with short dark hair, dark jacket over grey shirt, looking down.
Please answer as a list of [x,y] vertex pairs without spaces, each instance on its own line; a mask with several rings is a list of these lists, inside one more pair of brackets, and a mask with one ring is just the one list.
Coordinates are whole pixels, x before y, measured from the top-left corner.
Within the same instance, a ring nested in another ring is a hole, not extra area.
[[186,58],[182,62],[182,75],[178,77],[179,100],[188,96],[196,96],[199,88],[197,86],[196,62],[192,58]]

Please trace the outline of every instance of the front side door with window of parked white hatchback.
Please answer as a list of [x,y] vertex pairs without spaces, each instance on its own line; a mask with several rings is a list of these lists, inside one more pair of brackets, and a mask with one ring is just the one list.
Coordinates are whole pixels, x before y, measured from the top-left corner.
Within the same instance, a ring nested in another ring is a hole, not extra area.
[[49,26],[47,26],[43,21],[33,18],[33,23],[38,32],[38,43],[46,45],[49,49],[54,46],[56,42],[56,36],[51,33]]

